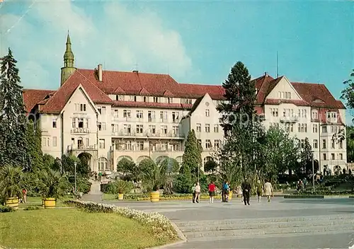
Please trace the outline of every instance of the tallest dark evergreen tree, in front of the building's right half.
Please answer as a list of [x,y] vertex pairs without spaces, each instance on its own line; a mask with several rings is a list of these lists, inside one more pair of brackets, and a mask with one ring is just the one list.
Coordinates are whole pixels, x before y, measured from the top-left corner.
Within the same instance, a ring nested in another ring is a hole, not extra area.
[[[255,119],[254,105],[256,101],[255,82],[251,81],[249,70],[242,62],[236,62],[227,79],[222,84],[226,101],[217,106],[222,117],[221,126],[224,129],[225,143],[221,153],[233,155],[228,161],[222,156],[222,169],[225,172],[239,173],[238,169],[226,167],[240,167],[242,174],[250,175],[256,168],[256,149],[263,137],[260,119]],[[241,160],[240,160],[241,159]]]

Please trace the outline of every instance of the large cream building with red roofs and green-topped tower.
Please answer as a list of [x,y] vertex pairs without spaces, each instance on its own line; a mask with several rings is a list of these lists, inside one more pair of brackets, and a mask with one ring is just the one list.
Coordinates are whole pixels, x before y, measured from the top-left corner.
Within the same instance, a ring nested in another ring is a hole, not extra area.
[[[343,129],[345,107],[323,84],[290,82],[268,74],[255,79],[258,114],[266,127],[309,138],[322,168],[346,165],[346,143],[332,141]],[[204,161],[223,138],[216,106],[222,86],[178,83],[167,74],[76,69],[69,35],[57,91],[25,89],[30,118],[39,120],[42,151],[86,156],[91,170],[115,170],[121,158],[139,163],[164,156],[181,162],[194,129]]]

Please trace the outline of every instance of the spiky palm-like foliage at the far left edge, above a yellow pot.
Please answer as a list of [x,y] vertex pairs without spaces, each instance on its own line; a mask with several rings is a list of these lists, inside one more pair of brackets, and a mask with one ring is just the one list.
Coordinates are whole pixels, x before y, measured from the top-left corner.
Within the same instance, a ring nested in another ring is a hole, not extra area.
[[21,196],[24,174],[22,168],[4,166],[0,170],[1,197],[8,199]]

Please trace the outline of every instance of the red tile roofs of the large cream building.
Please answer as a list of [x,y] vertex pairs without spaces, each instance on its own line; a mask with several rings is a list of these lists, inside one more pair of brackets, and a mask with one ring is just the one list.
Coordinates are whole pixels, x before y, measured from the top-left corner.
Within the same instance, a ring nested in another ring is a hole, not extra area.
[[[283,76],[282,76],[283,77]],[[279,103],[294,103],[295,105],[310,105],[321,108],[345,108],[341,101],[333,98],[333,95],[323,84],[292,83],[295,90],[303,100],[275,100],[267,99],[270,91],[275,88],[282,79],[273,79],[265,74],[256,81],[257,99],[256,105],[278,105]],[[202,85],[192,83],[177,83],[167,74],[146,74],[127,71],[103,71],[102,81],[98,81],[95,70],[77,69],[58,91],[26,90],[23,92],[27,110],[31,110],[37,103],[42,105],[41,112],[59,113],[69,100],[72,93],[81,83],[94,103],[107,103],[114,106],[129,107],[156,107],[156,108],[192,108],[192,105],[145,103],[130,101],[113,101],[108,94],[127,95],[152,95],[176,98],[198,99],[208,93],[214,100],[224,99],[224,88],[217,85]],[[48,93],[52,97],[45,99]],[[257,110],[261,112],[261,109]],[[263,110],[262,110],[263,112]]]

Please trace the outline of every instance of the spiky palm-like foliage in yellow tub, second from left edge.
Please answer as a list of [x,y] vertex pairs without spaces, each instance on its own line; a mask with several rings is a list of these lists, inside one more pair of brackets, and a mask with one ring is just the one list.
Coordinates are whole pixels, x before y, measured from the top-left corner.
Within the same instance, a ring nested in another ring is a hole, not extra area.
[[43,198],[59,198],[71,189],[67,175],[61,175],[50,168],[42,170],[38,177],[38,187]]

